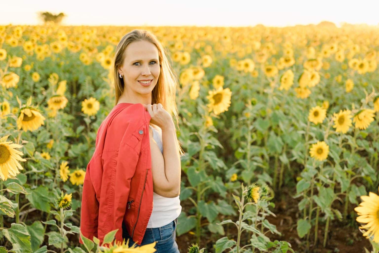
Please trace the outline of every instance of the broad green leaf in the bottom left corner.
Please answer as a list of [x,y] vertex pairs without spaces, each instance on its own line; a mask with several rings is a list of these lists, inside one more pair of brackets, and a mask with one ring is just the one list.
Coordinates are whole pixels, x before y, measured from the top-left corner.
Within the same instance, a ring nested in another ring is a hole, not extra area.
[[14,253],[31,253],[30,234],[27,229],[21,225],[12,223],[11,228],[2,230],[6,239],[11,242]]

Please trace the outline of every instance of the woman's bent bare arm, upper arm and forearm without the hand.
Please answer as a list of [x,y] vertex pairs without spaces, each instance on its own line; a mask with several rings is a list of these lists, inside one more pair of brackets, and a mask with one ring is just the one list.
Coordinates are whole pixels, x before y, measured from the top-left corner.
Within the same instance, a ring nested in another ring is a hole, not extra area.
[[153,190],[166,198],[174,198],[180,194],[181,167],[176,138],[174,123],[162,129],[162,155],[150,130]]

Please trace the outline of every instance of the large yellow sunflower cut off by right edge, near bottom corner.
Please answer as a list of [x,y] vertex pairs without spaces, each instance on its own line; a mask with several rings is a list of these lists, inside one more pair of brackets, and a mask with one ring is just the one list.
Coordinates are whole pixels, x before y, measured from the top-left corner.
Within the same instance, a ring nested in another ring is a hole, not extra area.
[[354,208],[359,215],[356,220],[366,225],[359,228],[367,229],[363,236],[373,237],[374,242],[379,242],[379,196],[370,192],[368,196],[360,196],[360,198],[363,202]]

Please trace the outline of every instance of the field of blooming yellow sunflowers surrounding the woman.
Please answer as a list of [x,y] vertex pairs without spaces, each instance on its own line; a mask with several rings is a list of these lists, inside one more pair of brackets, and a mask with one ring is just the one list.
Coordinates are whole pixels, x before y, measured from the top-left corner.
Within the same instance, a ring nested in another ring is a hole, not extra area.
[[180,252],[379,252],[379,27],[323,22],[0,26],[0,253],[155,252],[79,244],[133,29],[157,35],[180,82]]

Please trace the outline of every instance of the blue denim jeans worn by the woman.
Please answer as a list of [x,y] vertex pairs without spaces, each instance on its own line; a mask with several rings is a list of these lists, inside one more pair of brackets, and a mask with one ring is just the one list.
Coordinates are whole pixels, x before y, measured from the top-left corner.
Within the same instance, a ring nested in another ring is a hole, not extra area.
[[[178,218],[159,228],[146,228],[146,232],[140,246],[156,242],[154,247],[157,250],[156,253],[180,253],[178,245],[175,242],[175,229],[177,222]],[[124,223],[122,223],[122,238],[125,238],[125,242],[129,239],[128,246],[132,247],[134,241],[128,234]],[[138,247],[138,245],[136,246]]]

